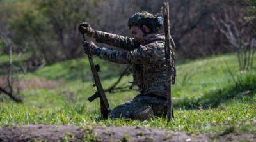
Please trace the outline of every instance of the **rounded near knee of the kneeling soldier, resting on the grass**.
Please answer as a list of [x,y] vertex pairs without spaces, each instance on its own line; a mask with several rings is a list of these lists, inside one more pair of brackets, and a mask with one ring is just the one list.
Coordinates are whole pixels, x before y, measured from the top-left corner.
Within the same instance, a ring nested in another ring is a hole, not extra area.
[[133,112],[133,118],[136,120],[148,120],[153,118],[154,111],[151,106],[142,106]]

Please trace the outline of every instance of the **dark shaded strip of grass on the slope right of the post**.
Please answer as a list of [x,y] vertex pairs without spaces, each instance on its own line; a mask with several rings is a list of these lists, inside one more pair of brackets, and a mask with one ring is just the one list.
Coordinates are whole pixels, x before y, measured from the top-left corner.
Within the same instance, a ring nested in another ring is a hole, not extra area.
[[175,108],[198,109],[216,108],[230,99],[253,97],[256,93],[256,75],[250,74],[237,77],[236,81],[229,83],[223,89],[207,92],[200,97],[188,97],[173,102]]

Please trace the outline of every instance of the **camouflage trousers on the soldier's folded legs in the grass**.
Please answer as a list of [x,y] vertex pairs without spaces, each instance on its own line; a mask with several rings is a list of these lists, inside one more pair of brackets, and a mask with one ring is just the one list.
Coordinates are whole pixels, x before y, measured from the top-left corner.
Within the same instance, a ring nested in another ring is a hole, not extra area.
[[155,97],[137,96],[132,101],[116,106],[109,114],[111,118],[125,118],[132,120],[148,120],[150,118],[165,117],[166,101]]

